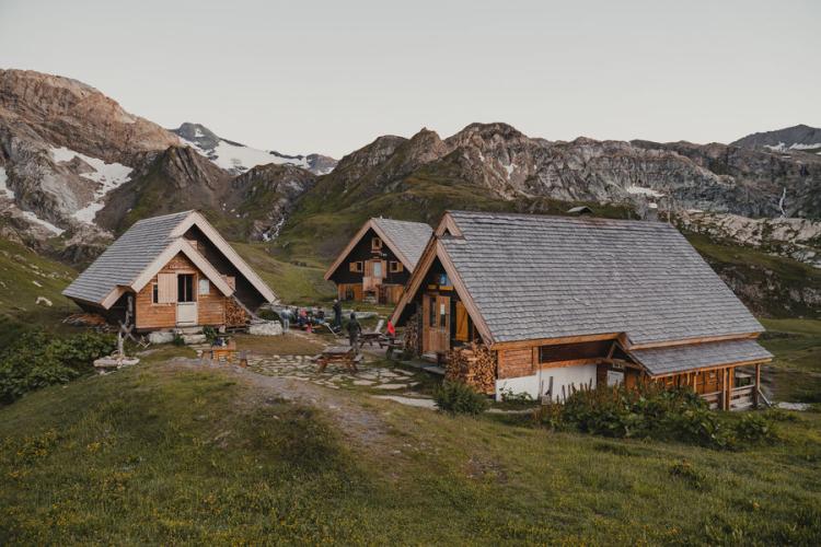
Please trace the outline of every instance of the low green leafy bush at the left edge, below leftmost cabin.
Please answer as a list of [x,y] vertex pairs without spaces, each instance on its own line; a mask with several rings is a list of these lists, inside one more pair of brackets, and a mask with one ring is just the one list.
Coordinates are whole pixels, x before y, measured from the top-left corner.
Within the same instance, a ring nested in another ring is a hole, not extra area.
[[93,361],[116,348],[111,335],[83,333],[57,337],[32,330],[0,351],[0,403],[27,392],[62,384],[93,370]]

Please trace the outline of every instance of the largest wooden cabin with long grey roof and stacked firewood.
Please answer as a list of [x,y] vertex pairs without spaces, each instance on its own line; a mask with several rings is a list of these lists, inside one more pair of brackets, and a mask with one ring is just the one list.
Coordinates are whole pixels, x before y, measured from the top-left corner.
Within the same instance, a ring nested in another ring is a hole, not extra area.
[[414,322],[428,356],[489,350],[497,397],[658,382],[743,408],[772,359],[761,324],[662,222],[448,212],[392,321]]

